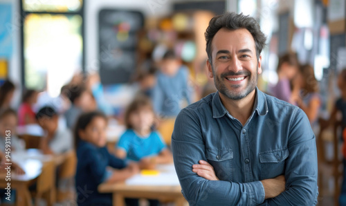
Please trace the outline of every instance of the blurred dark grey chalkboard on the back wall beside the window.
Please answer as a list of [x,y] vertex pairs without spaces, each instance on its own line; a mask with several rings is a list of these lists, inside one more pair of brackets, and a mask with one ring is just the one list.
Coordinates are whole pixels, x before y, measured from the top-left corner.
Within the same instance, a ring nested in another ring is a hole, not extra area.
[[102,9],[98,20],[101,83],[127,83],[136,68],[137,32],[144,25],[143,13]]

